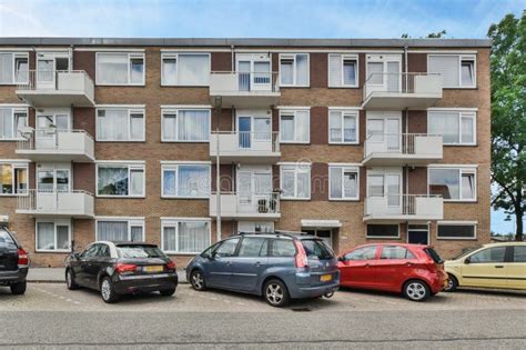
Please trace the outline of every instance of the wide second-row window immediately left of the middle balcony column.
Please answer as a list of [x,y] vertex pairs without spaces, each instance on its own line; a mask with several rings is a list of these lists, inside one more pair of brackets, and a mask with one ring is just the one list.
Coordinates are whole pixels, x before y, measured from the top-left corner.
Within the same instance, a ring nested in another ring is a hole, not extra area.
[[210,110],[163,110],[161,139],[164,142],[209,142]]

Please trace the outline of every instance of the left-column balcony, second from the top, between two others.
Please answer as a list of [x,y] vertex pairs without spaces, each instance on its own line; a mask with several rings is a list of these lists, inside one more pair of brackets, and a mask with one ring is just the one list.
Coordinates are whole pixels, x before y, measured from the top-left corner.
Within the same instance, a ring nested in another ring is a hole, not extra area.
[[18,141],[17,154],[31,161],[93,162],[93,138],[83,130],[26,128]]

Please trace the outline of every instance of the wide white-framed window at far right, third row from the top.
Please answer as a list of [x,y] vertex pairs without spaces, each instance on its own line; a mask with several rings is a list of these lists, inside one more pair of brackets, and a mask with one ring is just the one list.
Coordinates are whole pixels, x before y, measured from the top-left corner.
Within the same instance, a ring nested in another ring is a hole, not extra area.
[[476,170],[458,168],[429,168],[429,194],[445,200],[475,201]]

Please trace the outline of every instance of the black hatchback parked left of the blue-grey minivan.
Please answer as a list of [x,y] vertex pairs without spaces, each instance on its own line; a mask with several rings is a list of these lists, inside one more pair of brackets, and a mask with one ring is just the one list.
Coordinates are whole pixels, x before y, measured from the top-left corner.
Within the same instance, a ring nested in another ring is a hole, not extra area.
[[112,303],[128,293],[159,291],[161,296],[172,296],[178,273],[175,263],[155,244],[99,241],[71,254],[65,282],[70,290],[99,290],[102,300]]

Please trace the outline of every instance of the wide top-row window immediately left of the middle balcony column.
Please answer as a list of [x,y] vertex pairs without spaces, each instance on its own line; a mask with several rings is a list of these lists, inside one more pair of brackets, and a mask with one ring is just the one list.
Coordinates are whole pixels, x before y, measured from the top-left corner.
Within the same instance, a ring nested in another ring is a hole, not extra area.
[[161,60],[161,83],[163,86],[209,86],[209,53],[163,53]]

